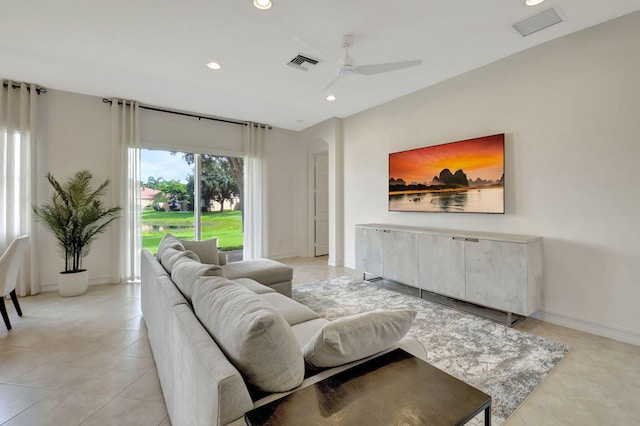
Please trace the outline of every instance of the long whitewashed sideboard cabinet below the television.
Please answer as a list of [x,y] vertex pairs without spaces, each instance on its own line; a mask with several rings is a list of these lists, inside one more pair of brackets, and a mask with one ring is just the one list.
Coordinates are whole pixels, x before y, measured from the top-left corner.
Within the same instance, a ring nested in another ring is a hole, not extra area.
[[356,225],[356,269],[529,316],[542,305],[542,237]]

